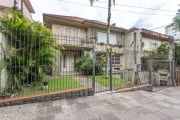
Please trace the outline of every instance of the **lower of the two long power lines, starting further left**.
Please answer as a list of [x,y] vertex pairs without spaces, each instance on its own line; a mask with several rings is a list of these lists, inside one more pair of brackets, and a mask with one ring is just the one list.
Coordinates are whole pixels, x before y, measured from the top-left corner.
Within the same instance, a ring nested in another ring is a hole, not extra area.
[[[90,5],[88,5],[88,4],[70,2],[70,1],[65,1],[65,0],[60,0],[60,1],[65,2],[65,3],[77,4],[77,5],[81,5],[81,6],[90,7]],[[101,7],[101,6],[93,6],[93,7],[100,8],[100,9],[107,9],[106,7]],[[133,13],[133,14],[135,13],[135,14],[144,14],[144,15],[174,16],[174,15],[162,15],[162,14],[151,14],[151,13],[143,13],[143,12],[126,11],[126,10],[119,10],[119,9],[112,9],[112,10],[117,11],[117,12],[125,12],[125,13]]]

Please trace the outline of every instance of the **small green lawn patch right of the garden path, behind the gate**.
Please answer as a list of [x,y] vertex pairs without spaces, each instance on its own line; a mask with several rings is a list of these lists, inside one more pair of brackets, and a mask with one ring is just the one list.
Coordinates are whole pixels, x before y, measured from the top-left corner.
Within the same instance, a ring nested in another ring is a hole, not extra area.
[[[106,87],[109,87],[110,85],[109,77],[107,77],[106,75],[96,75],[96,82]],[[119,77],[112,77],[112,86],[115,87],[122,85],[131,85],[131,83]]]

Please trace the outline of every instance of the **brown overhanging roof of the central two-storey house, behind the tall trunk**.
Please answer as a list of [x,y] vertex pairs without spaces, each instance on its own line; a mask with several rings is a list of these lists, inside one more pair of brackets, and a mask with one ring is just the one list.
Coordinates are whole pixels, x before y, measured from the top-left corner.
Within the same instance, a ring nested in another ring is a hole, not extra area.
[[[62,21],[64,20],[64,21]],[[103,27],[104,29],[107,28],[107,23],[98,21],[98,20],[89,20],[89,19],[85,19],[85,18],[81,18],[81,17],[76,17],[76,16],[65,16],[65,15],[55,15],[55,14],[43,14],[43,21],[44,24],[48,27],[50,27],[52,25],[52,22],[66,22],[67,24],[74,23],[77,24],[79,26],[83,26],[83,27],[91,27],[93,26],[94,28],[96,27]],[[125,28],[121,28],[121,27],[117,27],[117,26],[113,26],[111,25],[112,29],[118,29],[120,31],[127,31],[127,29]]]

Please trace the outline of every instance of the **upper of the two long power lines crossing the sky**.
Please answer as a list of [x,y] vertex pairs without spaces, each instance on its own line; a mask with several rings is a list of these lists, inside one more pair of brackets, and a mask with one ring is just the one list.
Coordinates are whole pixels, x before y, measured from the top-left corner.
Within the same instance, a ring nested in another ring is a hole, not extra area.
[[[98,1],[99,3],[107,4],[107,2],[102,2]],[[132,8],[140,8],[140,9],[148,9],[148,10],[155,10],[155,11],[164,11],[164,12],[177,12],[177,11],[172,11],[172,10],[165,10],[165,9],[155,9],[155,8],[149,8],[149,7],[141,7],[141,6],[135,6],[135,5],[127,5],[127,4],[118,4],[116,3],[117,6],[124,6],[124,7],[132,7]]]

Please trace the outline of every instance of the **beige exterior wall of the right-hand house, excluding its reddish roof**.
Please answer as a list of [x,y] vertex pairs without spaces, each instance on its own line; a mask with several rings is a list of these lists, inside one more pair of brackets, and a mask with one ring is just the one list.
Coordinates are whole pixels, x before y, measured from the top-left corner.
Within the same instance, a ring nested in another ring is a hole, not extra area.
[[[134,32],[136,32],[136,51],[137,51],[137,64],[141,64],[141,58],[146,57],[144,50],[150,49],[150,43],[156,43],[157,47],[161,44],[158,39],[143,37],[141,29],[129,32],[126,34],[125,40],[125,69],[134,69]],[[144,43],[144,45],[142,44]]]

